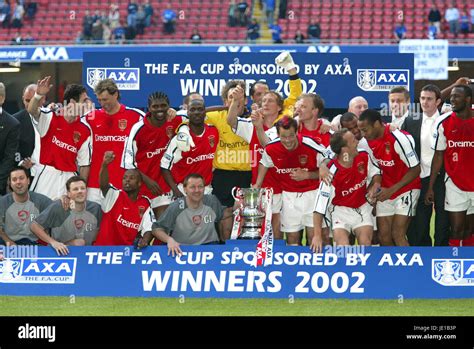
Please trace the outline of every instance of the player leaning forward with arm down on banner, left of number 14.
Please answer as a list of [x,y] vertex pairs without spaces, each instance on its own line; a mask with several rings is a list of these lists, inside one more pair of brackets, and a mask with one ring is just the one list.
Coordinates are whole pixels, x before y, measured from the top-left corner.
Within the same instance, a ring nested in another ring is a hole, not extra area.
[[[333,175],[331,185],[321,181],[313,213],[314,235],[310,248],[322,252],[322,224],[327,208],[336,245],[349,245],[349,234],[357,237],[359,245],[370,246],[373,234],[372,206],[366,201],[375,197],[382,177],[380,169],[363,150],[358,149],[358,140],[348,129],[343,128],[331,136],[331,149],[337,157],[328,164]],[[370,183],[367,188],[367,183]],[[334,194],[334,195],[333,195]]]

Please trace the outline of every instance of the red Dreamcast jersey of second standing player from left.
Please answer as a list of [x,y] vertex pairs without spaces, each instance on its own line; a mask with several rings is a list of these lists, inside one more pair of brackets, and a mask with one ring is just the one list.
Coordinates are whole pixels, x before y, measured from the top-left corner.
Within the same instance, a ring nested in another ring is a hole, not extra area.
[[87,186],[99,188],[99,172],[106,151],[113,151],[116,159],[109,165],[109,181],[116,188],[122,188],[125,170],[120,166],[125,140],[132,126],[145,115],[141,110],[120,105],[120,110],[109,115],[102,109],[94,110],[82,117],[92,130],[92,161]]

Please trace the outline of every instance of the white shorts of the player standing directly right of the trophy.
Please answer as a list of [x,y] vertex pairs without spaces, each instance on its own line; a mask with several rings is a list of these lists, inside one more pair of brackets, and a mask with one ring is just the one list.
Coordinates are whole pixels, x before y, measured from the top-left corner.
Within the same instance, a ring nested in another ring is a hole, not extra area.
[[304,193],[281,194],[281,230],[285,233],[296,233],[304,227],[313,227],[313,209],[317,190]]

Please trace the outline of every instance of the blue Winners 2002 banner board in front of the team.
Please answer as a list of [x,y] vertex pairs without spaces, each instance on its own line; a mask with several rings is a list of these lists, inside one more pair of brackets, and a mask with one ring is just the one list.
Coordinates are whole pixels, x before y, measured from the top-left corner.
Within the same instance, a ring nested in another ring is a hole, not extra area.
[[0,290],[17,296],[221,298],[474,298],[473,249],[275,245],[253,267],[256,242],[183,246],[0,247]]

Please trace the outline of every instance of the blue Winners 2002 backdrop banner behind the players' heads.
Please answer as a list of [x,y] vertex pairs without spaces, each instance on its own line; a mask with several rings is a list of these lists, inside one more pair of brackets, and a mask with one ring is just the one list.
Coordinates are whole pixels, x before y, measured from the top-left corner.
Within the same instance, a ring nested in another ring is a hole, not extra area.
[[[146,107],[147,96],[161,90],[172,106],[182,104],[190,92],[204,96],[206,105],[222,105],[220,93],[228,80],[250,84],[266,80],[272,90],[289,94],[288,74],[275,64],[277,53],[177,52],[85,53],[83,82],[93,96],[93,87],[112,78],[121,91],[121,101]],[[303,92],[320,94],[327,108],[347,108],[351,98],[362,95],[372,108],[387,104],[390,89],[407,87],[413,98],[413,54],[292,54],[299,66]]]

